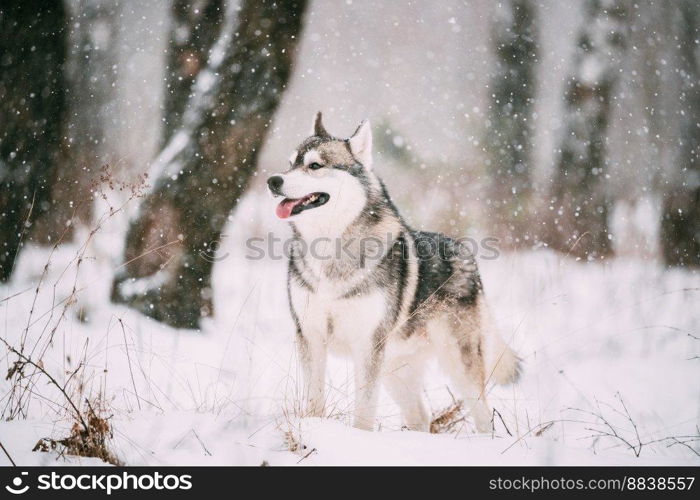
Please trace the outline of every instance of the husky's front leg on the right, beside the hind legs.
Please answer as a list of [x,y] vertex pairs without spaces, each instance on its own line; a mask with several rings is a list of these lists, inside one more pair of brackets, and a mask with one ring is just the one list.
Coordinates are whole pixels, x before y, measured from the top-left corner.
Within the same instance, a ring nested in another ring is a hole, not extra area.
[[353,353],[355,362],[354,426],[371,431],[377,412],[378,382],[384,359],[385,335],[377,332]]

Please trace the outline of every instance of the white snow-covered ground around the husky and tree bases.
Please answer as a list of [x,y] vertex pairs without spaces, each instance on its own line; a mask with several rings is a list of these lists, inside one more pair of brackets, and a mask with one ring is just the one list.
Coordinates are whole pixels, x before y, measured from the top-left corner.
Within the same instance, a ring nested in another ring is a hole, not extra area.
[[[401,430],[382,394],[379,430],[369,433],[348,426],[353,384],[344,360],[329,368],[329,417],[299,417],[286,262],[246,258],[243,235],[285,231],[259,208],[250,196],[231,221],[214,271],[216,316],[198,333],[109,303],[123,221],[97,234],[77,280],[79,245],[61,246],[35,300],[49,250],[29,248],[0,288],[2,338],[19,347],[26,335],[25,352],[37,345],[32,358],[60,383],[84,362],[68,392],[76,401],[103,396],[110,447],[124,463],[700,463],[700,442],[673,439],[700,434],[697,273],[632,257],[581,263],[546,250],[481,259],[503,336],[524,359],[517,385],[489,393],[502,416],[494,432],[474,434],[468,420],[451,434]],[[77,300],[65,307],[74,283]],[[0,352],[7,371],[17,357]],[[2,379],[7,416],[10,381]],[[0,442],[19,464],[53,464],[55,453],[31,450],[42,437],[66,436],[72,422],[62,395],[43,376],[34,380],[24,413],[0,422]],[[425,394],[436,412],[451,401],[445,387],[435,367]],[[58,459],[66,461],[96,459]]]

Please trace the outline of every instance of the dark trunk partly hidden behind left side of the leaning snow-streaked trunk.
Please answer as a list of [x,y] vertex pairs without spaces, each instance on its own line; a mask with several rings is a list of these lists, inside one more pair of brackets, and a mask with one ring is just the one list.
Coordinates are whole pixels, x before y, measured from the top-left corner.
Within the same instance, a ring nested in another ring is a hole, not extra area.
[[206,68],[224,18],[223,0],[175,0],[168,45],[163,142],[182,125],[192,84]]

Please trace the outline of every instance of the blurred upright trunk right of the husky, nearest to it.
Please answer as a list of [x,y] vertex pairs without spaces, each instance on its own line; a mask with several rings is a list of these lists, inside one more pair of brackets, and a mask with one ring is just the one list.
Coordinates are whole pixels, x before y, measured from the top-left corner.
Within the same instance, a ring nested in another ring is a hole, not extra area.
[[490,216],[506,243],[532,241],[528,201],[532,185],[530,151],[535,97],[537,41],[535,7],[530,0],[499,4],[492,30],[496,69],[491,79]]

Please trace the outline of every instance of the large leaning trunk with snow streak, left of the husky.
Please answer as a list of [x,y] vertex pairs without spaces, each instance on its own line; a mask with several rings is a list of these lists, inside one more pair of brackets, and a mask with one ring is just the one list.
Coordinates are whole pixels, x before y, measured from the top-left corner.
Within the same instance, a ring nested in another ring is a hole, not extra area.
[[154,185],[129,228],[114,301],[179,328],[197,328],[212,314],[213,251],[287,86],[305,6],[244,0],[237,28],[226,8],[182,125],[152,166]]

